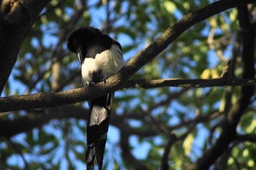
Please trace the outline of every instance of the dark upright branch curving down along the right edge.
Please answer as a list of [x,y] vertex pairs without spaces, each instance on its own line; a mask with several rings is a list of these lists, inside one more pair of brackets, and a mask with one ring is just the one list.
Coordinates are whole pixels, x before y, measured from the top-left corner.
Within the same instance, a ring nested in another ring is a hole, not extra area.
[[[252,24],[249,22],[249,11],[246,6],[238,7],[238,21],[242,31],[242,77],[255,77],[254,53],[256,35],[252,29]],[[230,107],[230,110],[225,115],[225,119],[222,121],[222,134],[220,134],[217,142],[198,159],[193,169],[208,169],[217,158],[225,152],[229,144],[236,140],[236,127],[241,116],[249,106],[254,91],[255,87],[253,85],[241,88],[241,96],[239,96],[238,101]]]

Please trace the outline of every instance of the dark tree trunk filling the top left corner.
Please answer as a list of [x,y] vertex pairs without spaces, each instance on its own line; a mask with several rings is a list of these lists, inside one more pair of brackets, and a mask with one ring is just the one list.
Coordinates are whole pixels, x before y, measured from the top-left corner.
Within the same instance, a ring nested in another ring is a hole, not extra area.
[[0,1],[0,94],[12,72],[23,40],[49,1]]

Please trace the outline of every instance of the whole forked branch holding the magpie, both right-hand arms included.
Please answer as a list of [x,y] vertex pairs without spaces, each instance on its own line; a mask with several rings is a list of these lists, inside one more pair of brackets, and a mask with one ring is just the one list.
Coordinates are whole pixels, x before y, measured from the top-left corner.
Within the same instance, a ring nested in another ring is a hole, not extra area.
[[[184,87],[200,88],[227,85],[254,85],[255,79],[238,80],[230,77],[221,77],[215,80],[129,80],[135,72],[149,61],[154,59],[162,50],[170,45],[178,36],[191,26],[195,25],[206,18],[211,17],[226,9],[249,4],[255,0],[233,0],[217,1],[195,12],[189,12],[184,15],[178,23],[170,26],[145,50],[140,51],[132,58],[118,74],[113,75],[107,80],[107,83],[98,83],[88,88],[78,88],[73,90],[62,91],[59,93],[37,93],[32,95],[10,96],[0,98],[0,112],[14,111],[20,109],[56,107],[64,104],[75,104],[88,99],[110,93],[111,91],[121,90],[124,88],[160,88],[160,87]],[[129,80],[129,81],[128,81]]]

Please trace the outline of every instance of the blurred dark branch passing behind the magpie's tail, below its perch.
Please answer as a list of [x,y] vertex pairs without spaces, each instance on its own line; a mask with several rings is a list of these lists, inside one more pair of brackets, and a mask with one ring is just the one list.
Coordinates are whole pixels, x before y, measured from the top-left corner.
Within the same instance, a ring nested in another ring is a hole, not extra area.
[[[62,106],[62,107],[52,107],[48,109],[39,110],[28,110],[26,111],[26,116],[17,117],[14,120],[0,119],[0,136],[5,136],[8,139],[16,134],[31,131],[33,128],[42,128],[50,120],[63,120],[69,118],[83,119],[87,120],[89,116],[89,110],[83,107],[76,106]],[[138,112],[127,113],[125,115],[116,115],[112,112],[110,124],[121,129],[122,132],[126,134],[133,134],[142,137],[154,136],[159,133],[157,129],[152,129],[151,127],[136,129],[131,128],[129,125],[124,125],[124,120],[129,119],[145,119],[145,115],[140,115]]]

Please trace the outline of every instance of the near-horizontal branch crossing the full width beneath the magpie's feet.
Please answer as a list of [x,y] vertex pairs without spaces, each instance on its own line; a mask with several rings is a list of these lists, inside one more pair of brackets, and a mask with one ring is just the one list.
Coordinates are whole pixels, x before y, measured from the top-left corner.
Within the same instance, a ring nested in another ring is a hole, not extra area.
[[[115,76],[115,75],[114,75]],[[109,82],[109,80],[107,80]],[[206,88],[228,85],[255,85],[254,78],[236,79],[224,70],[222,77],[212,80],[181,80],[181,79],[162,79],[162,80],[129,80],[126,84],[118,87],[111,87],[110,83],[100,82],[97,85],[86,88],[76,88],[57,93],[35,93],[29,95],[7,96],[0,98],[0,112],[10,112],[20,109],[37,109],[45,107],[57,107],[65,104],[75,104],[91,98],[97,98],[113,90],[125,88],[163,88],[163,87],[182,87],[182,88]]]

